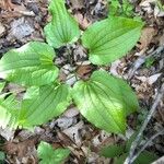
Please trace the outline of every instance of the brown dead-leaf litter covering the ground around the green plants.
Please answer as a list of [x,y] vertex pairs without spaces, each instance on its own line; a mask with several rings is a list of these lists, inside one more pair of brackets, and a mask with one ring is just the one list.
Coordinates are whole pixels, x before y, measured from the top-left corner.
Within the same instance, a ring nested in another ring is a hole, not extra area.
[[[126,57],[105,67],[112,74],[128,81],[140,103],[141,113],[128,117],[127,138],[141,126],[164,83],[164,3],[157,3],[155,0],[136,0],[131,4],[134,15],[141,16],[145,23],[141,38]],[[66,0],[66,5],[79,22],[81,30],[85,30],[92,23],[107,16],[109,4],[106,0]],[[48,0],[0,0],[0,57],[30,40],[45,42],[43,28],[49,20]],[[74,62],[85,56],[84,49],[78,44],[70,50]],[[58,62],[62,63],[63,79],[70,75],[65,70],[71,69],[62,60],[66,54],[66,47],[62,47]],[[95,69],[98,68],[86,61],[78,68],[78,73],[83,77],[91,74]],[[74,79],[70,78],[68,83],[73,81]],[[17,92],[20,87],[9,83],[5,90]],[[155,114],[144,130],[143,141],[163,128],[164,98],[160,99]],[[0,143],[5,153],[5,163],[38,163],[36,149],[42,140],[54,148],[69,147],[72,152],[66,163],[108,164],[113,163],[113,160],[99,156],[99,150],[104,145],[124,143],[126,139],[120,134],[115,136],[95,128],[74,106],[70,106],[62,116],[50,122],[36,127],[34,132],[0,129]],[[163,156],[164,136],[157,136],[147,150],[159,157]]]

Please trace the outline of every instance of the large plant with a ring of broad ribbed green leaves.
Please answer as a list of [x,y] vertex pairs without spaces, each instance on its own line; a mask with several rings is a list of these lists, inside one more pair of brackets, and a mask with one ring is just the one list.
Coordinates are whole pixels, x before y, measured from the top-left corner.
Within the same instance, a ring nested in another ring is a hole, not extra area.
[[52,19],[44,28],[48,44],[27,43],[8,51],[0,60],[0,78],[26,89],[21,102],[11,93],[1,94],[0,126],[31,129],[60,116],[74,103],[80,113],[97,128],[125,133],[126,117],[139,108],[130,86],[105,70],[97,70],[90,79],[78,80],[73,86],[69,86],[59,81],[54,48],[81,40],[93,65],[109,65],[136,45],[143,23],[108,16],[82,34],[75,20],[66,10],[63,0],[51,0],[49,11]]

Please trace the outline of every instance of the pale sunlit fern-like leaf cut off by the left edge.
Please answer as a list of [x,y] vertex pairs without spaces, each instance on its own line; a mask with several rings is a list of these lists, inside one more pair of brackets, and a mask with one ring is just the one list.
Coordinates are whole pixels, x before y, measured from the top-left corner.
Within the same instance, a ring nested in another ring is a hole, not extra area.
[[19,113],[20,104],[14,95],[9,95],[7,98],[0,96],[0,128],[16,129]]

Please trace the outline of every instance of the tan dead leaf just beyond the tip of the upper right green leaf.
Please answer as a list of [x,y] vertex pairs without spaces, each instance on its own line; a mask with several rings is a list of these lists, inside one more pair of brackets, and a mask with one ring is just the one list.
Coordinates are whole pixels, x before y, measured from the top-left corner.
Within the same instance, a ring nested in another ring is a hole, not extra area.
[[143,28],[141,33],[141,38],[139,40],[140,42],[139,48],[147,49],[149,44],[152,42],[154,35],[156,35],[156,30],[154,30],[153,27]]

